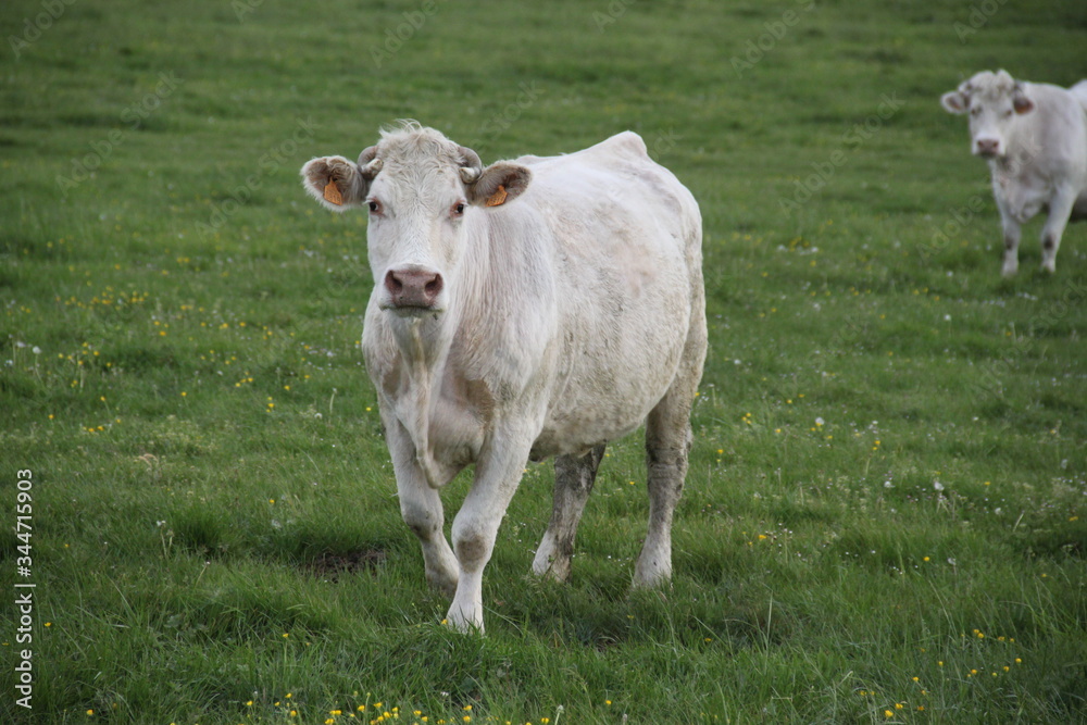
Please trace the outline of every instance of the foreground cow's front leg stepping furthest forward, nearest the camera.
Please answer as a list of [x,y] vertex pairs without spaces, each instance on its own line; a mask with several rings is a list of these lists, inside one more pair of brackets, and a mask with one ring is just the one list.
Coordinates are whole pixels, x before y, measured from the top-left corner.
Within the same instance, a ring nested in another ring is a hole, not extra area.
[[476,463],[472,490],[453,520],[460,579],[446,620],[459,632],[483,632],[483,570],[495,550],[498,526],[517,490],[533,436],[498,434]]

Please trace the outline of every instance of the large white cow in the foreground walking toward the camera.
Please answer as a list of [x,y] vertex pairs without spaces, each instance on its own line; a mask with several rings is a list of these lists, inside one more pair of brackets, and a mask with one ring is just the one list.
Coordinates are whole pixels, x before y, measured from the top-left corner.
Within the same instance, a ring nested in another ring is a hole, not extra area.
[[[533,570],[562,580],[604,443],[646,423],[649,530],[634,574],[672,574],[672,514],[705,358],[701,216],[636,134],[482,167],[433,128],[382,133],[303,186],[366,204],[374,291],[362,346],[400,510],[460,630],[483,629],[483,568],[528,460],[555,460]],[[439,489],[475,464],[443,533]]]

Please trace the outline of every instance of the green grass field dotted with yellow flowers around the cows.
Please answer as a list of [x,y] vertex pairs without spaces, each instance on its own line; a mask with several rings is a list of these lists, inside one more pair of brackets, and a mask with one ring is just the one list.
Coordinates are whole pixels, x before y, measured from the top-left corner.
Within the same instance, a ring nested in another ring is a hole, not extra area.
[[[0,5],[0,721],[1087,722],[1087,227],[1049,276],[1036,221],[1001,279],[939,105],[1087,76],[1087,5],[463,4]],[[629,128],[698,198],[666,591],[628,592],[632,436],[567,586],[528,576],[534,464],[487,636],[440,625],[359,350],[365,215],[298,179],[404,117],[485,162]]]

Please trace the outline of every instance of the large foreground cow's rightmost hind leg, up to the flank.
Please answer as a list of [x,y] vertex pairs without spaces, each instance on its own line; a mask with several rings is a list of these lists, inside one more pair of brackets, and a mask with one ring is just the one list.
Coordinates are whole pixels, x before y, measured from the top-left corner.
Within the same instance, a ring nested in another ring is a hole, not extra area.
[[635,587],[653,587],[672,578],[672,513],[683,493],[690,452],[690,409],[705,360],[704,304],[696,300],[679,371],[667,393],[646,420],[649,467],[649,530],[634,570]]

